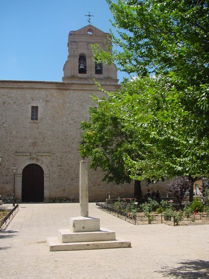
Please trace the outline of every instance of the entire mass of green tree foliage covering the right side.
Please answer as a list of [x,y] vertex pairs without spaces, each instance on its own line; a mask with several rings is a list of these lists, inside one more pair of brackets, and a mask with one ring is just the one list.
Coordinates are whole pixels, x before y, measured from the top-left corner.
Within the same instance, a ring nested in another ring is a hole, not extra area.
[[[97,99],[82,122],[80,148],[103,180],[131,180],[208,173],[209,11],[205,1],[107,0],[121,51],[94,46],[97,61],[136,77]],[[152,74],[152,77],[149,76]],[[153,75],[154,74],[154,75]]]

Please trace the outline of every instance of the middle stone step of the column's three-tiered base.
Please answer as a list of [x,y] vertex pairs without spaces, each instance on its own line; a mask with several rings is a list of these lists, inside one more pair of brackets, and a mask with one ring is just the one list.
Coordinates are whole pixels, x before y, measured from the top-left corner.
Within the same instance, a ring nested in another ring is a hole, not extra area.
[[57,237],[61,243],[116,240],[115,232],[106,228],[89,232],[72,232],[69,229],[61,229],[58,230]]

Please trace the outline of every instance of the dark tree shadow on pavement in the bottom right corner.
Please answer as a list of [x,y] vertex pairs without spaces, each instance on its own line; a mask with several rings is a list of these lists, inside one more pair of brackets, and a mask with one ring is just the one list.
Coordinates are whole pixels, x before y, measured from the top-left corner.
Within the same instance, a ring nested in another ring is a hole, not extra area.
[[195,260],[180,262],[179,267],[163,267],[157,271],[165,277],[184,278],[184,279],[209,279],[209,261]]

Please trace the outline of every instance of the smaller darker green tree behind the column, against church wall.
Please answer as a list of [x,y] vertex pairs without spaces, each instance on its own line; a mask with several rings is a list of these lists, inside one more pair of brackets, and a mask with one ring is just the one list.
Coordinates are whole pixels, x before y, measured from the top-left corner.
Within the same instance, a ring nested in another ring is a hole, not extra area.
[[[121,93],[108,93],[109,97],[97,99],[97,108],[90,108],[90,121],[83,121],[81,128],[84,130],[82,141],[84,147],[80,146],[80,153],[83,157],[90,157],[90,168],[100,167],[104,171],[103,181],[116,184],[130,183],[132,179],[129,171],[124,165],[124,154],[141,158],[142,153],[135,145],[134,131],[131,124],[127,125],[126,118],[128,111],[117,102],[121,99]],[[115,106],[115,104],[117,105]],[[134,182],[134,196],[142,200],[140,180]]]

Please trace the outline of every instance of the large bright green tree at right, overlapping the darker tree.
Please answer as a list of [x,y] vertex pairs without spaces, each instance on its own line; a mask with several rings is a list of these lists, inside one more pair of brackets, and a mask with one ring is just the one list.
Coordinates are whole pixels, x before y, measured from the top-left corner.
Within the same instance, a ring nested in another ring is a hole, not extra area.
[[[147,153],[143,160],[124,153],[125,168],[132,179],[187,175],[193,182],[208,173],[208,2],[107,3],[119,35],[112,32],[113,43],[121,49],[109,56],[94,46],[95,57],[143,77],[127,84],[120,104],[132,110],[132,129]],[[192,193],[191,187],[191,200]]]

